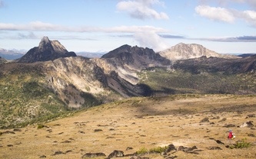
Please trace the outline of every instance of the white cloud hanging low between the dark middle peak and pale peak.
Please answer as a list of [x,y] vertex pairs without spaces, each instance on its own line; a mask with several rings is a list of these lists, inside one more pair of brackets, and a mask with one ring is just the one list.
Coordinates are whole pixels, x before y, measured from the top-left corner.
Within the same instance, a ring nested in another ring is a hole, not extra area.
[[170,47],[165,39],[160,37],[154,31],[135,33],[135,40],[139,42],[141,47],[152,48],[155,51],[165,50]]

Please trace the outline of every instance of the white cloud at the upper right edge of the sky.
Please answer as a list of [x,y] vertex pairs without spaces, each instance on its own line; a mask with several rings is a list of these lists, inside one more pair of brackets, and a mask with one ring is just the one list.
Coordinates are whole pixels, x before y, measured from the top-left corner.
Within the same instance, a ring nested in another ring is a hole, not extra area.
[[211,21],[224,21],[234,23],[236,19],[241,19],[256,27],[256,11],[238,11],[228,8],[215,8],[208,5],[199,5],[195,8],[198,15],[209,18]]

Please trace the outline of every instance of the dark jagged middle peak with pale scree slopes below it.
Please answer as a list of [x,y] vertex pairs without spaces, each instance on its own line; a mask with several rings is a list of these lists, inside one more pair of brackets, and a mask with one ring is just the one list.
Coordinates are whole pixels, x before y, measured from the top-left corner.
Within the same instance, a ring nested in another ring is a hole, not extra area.
[[148,67],[170,67],[171,61],[156,54],[154,50],[143,47],[123,45],[111,50],[101,59],[95,59],[105,72],[115,70],[121,78],[130,83],[138,83],[137,72]]

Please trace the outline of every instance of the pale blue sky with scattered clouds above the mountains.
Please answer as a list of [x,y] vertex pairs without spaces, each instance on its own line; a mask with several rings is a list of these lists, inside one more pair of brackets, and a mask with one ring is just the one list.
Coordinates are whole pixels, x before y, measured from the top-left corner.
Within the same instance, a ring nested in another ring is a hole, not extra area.
[[29,50],[44,36],[75,52],[185,43],[256,53],[256,0],[0,0],[0,48]]

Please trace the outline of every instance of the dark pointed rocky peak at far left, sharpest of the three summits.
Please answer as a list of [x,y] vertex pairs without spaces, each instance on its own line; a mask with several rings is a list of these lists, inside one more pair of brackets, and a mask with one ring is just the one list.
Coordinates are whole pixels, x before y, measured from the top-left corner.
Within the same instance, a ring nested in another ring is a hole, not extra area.
[[35,63],[37,61],[55,60],[60,57],[76,57],[74,52],[68,52],[58,41],[50,41],[43,37],[38,47],[28,50],[28,53],[18,59],[19,63]]

